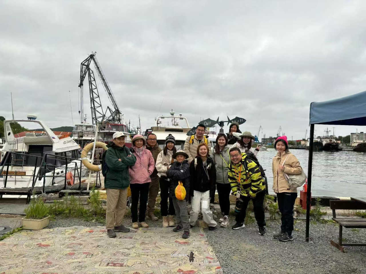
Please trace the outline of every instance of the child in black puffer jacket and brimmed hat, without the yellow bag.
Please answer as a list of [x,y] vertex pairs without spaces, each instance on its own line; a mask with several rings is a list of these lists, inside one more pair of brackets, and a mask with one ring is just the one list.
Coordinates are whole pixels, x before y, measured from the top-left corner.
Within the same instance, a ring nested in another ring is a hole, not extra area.
[[[167,177],[170,179],[169,185],[169,196],[173,198],[173,205],[176,213],[176,224],[177,227],[173,229],[174,232],[178,232],[184,229],[182,238],[187,239],[189,237],[189,217],[187,211],[187,201],[190,193],[190,175],[189,175],[189,165],[187,153],[180,150],[173,154],[173,159],[176,159],[176,162],[173,162],[169,165],[167,170]],[[178,182],[181,181],[183,183],[184,188],[186,189],[186,199],[183,201],[178,200],[175,197],[175,188],[178,186]]]

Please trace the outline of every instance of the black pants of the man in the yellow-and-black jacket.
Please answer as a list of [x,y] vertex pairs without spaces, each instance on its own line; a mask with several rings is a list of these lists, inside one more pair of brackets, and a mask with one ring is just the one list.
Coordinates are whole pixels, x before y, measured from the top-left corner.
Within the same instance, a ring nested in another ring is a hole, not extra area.
[[235,221],[243,223],[245,220],[246,212],[248,203],[250,200],[253,201],[253,208],[254,208],[254,216],[255,220],[257,220],[258,227],[264,227],[266,225],[266,221],[264,219],[264,208],[263,202],[266,192],[260,191],[257,193],[255,198],[250,198],[250,196],[240,196],[243,200],[242,210],[236,214]]

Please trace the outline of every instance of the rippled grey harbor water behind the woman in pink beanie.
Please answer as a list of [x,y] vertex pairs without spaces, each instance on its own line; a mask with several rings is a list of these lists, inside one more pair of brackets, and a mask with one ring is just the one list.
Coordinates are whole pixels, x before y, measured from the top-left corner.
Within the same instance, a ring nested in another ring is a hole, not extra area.
[[[266,170],[269,193],[273,194],[272,159],[276,155],[274,148],[258,152],[258,160]],[[300,161],[305,174],[309,160],[309,151],[292,149]],[[298,190],[302,190],[299,187]],[[354,151],[317,151],[313,152],[313,175],[311,179],[313,196],[365,197],[366,196],[366,153]]]

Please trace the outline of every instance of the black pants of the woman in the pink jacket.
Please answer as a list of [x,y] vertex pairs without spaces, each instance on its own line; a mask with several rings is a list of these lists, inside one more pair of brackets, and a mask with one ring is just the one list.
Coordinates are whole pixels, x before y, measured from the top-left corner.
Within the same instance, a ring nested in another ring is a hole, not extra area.
[[[131,215],[132,222],[145,222],[147,196],[149,195],[149,184],[130,184],[131,188]],[[140,208],[137,217],[138,201],[140,200]]]

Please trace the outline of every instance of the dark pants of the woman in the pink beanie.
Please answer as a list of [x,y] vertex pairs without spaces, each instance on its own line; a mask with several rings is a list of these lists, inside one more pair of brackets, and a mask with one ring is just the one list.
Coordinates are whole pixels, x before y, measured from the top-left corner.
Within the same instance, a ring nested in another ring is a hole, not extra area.
[[292,234],[294,230],[294,205],[297,193],[281,192],[277,193],[278,208],[281,212],[281,232]]

